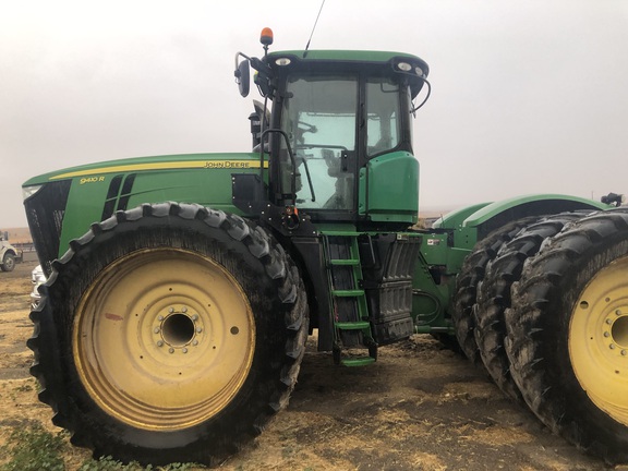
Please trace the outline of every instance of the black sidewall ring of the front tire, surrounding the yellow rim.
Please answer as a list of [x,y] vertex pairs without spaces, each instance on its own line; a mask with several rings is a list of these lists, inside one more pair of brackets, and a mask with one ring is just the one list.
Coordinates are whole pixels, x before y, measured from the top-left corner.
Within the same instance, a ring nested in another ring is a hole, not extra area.
[[[159,242],[160,241],[160,242]],[[180,432],[155,433],[123,424],[105,413],[78,381],[72,357],[72,328],[74,309],[85,289],[97,279],[108,264],[126,253],[144,246],[171,246],[172,241],[182,249],[210,256],[233,275],[249,302],[255,319],[256,342],[251,371],[233,400],[215,416]],[[80,276],[78,276],[80,275]],[[130,456],[153,463],[170,462],[169,450],[178,449],[190,460],[202,461],[208,450],[201,443],[216,445],[216,456],[235,451],[242,435],[254,435],[256,422],[269,409],[276,383],[282,366],[287,341],[283,315],[287,306],[277,297],[277,282],[253,256],[243,242],[229,237],[219,228],[212,228],[198,220],[181,221],[180,227],[168,226],[159,218],[141,222],[121,222],[114,231],[97,233],[93,241],[74,253],[50,287],[49,293],[58,328],[58,340],[67,392],[64,410],[73,410],[77,439],[89,437],[83,446],[95,448],[98,454]],[[202,438],[200,440],[200,438]]]

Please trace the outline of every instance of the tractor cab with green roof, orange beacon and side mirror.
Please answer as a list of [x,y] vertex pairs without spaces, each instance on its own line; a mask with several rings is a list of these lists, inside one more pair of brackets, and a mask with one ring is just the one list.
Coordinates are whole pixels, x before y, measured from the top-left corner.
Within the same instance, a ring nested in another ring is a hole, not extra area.
[[413,100],[426,83],[427,64],[397,52],[267,53],[271,33],[265,32],[264,58],[239,53],[237,61],[244,60],[235,71],[246,96],[251,64],[265,98],[252,119],[259,123],[252,129],[254,144],[269,162],[261,194],[279,207],[305,210],[314,221],[413,224]]

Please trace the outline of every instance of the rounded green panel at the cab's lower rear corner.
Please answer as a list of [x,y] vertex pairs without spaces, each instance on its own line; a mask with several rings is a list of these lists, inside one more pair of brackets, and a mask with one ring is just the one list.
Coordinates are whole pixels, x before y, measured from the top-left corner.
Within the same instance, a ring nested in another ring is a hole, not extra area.
[[373,221],[416,222],[419,161],[407,152],[376,157],[360,171],[359,214]]

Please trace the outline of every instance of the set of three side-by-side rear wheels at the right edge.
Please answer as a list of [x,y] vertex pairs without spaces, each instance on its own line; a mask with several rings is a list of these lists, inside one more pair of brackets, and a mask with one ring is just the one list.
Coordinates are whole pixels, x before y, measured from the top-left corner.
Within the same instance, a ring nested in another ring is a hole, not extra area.
[[551,216],[499,243],[509,233],[461,271],[467,354],[553,432],[628,462],[628,212]]

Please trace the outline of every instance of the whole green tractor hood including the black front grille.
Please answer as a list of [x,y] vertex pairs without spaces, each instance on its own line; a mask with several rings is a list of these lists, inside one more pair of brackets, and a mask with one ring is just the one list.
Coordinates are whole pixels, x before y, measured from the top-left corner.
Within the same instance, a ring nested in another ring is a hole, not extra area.
[[[264,160],[264,166],[266,167]],[[110,160],[45,173],[23,184],[28,227],[47,275],[72,239],[144,203],[195,203],[241,212],[232,174],[259,172],[259,154],[183,154]]]

